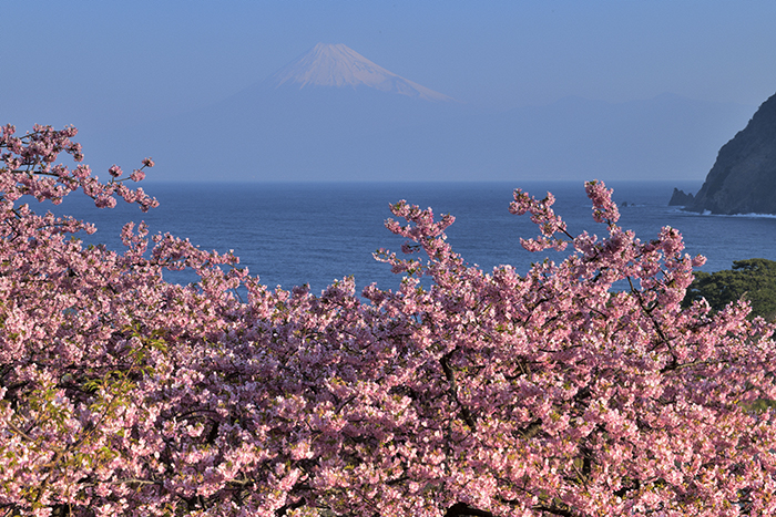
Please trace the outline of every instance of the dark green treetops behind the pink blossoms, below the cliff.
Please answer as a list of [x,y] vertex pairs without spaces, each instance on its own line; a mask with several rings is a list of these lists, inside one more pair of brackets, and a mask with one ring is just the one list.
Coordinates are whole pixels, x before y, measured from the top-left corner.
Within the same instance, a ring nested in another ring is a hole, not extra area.
[[751,318],[776,317],[776,262],[760,258],[733,261],[733,269],[707,273],[695,272],[684,304],[705,298],[718,311],[726,304],[745,298],[752,304]]

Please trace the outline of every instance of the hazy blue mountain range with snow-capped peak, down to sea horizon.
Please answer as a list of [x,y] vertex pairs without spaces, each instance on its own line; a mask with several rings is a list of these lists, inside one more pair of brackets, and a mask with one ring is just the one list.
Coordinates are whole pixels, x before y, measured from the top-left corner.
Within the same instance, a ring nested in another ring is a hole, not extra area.
[[142,149],[160,179],[674,179],[708,170],[749,110],[658,95],[493,113],[319,43],[218,103],[84,144],[105,149],[95,169]]

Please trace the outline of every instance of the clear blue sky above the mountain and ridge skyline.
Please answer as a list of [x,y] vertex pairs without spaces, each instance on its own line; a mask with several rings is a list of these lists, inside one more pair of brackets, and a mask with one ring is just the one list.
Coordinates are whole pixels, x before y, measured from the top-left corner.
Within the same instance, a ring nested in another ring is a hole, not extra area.
[[317,42],[493,108],[776,91],[773,0],[0,0],[0,123],[19,126],[185,112]]

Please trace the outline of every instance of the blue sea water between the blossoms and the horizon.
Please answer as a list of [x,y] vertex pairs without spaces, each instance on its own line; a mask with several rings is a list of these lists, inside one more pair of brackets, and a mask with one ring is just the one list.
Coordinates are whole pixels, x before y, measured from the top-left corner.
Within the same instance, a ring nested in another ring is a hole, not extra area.
[[[728,269],[733,260],[753,257],[776,260],[776,217],[698,215],[667,206],[673,187],[697,192],[698,183],[619,182],[607,186],[614,187],[623,227],[635,230],[642,240],[656,237],[663,226],[677,228],[687,252],[707,257],[703,270]],[[313,292],[349,275],[355,276],[359,290],[371,282],[384,288],[398,286],[390,267],[375,261],[371,254],[380,247],[400,252],[404,239],[384,227],[384,220],[391,217],[388,205],[399,199],[431,207],[437,215],[456,216],[447,231],[448,241],[464,260],[486,270],[511,263],[524,272],[531,262],[544,258],[520,246],[520,237],[534,237],[538,230],[528,216],[509,214],[515,187],[537,197],[552,192],[555,211],[572,235],[582,230],[606,234],[606,228],[591,217],[582,182],[153,183],[144,187],[161,203],[147,214],[121,200],[116,208],[101,210],[81,194],[69,196],[58,207],[33,209],[52,209],[94,223],[98,232],[84,235],[84,241],[116,250],[122,249],[122,225],[145,220],[152,232],[188,238],[202,249],[233,249],[241,266],[269,287],[290,289],[309,283]],[[171,279],[190,281],[194,277]]]

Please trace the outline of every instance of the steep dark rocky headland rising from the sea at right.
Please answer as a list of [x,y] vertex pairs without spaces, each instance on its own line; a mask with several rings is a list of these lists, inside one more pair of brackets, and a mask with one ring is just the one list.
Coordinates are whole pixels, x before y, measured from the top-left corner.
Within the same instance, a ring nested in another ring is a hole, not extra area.
[[776,214],[776,95],[725,144],[691,211]]

